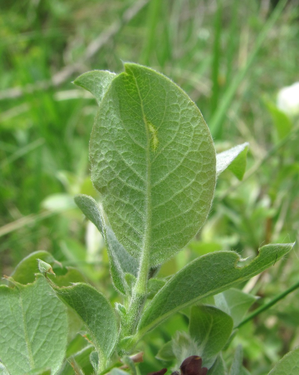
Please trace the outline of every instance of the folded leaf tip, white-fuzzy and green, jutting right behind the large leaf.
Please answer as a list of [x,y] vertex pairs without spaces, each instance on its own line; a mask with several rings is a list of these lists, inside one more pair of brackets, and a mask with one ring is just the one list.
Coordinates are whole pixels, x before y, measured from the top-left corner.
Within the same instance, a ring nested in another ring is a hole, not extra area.
[[217,175],[223,172],[224,169],[228,168],[239,180],[242,180],[246,169],[248,145],[249,143],[245,142],[232,147],[227,151],[216,154]]

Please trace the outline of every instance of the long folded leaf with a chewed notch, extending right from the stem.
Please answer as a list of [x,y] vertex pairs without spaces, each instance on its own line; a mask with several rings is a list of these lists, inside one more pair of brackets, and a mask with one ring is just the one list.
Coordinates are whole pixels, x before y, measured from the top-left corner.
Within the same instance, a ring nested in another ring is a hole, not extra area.
[[233,251],[213,252],[195,259],[176,273],[149,303],[139,324],[138,337],[174,312],[266,270],[292,248],[293,244],[265,245],[243,267],[237,266],[240,256]]

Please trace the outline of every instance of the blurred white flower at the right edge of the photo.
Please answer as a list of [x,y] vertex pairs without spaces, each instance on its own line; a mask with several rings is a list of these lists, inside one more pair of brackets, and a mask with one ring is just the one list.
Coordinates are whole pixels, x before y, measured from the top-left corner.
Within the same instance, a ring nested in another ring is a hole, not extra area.
[[277,95],[277,107],[288,115],[299,114],[299,82],[283,87]]

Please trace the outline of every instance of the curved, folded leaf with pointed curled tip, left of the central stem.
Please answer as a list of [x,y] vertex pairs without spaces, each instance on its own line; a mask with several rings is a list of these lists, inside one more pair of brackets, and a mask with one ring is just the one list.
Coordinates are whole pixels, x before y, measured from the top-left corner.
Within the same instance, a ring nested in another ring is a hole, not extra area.
[[57,296],[79,315],[86,325],[99,354],[99,366],[105,368],[117,340],[117,324],[106,297],[91,285],[78,283],[58,288],[51,283]]

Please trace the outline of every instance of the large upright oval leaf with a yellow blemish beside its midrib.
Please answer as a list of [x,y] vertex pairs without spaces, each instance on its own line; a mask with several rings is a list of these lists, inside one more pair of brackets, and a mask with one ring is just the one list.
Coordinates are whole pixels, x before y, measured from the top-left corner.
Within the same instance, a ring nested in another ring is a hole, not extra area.
[[99,104],[92,180],[126,250],[150,265],[198,232],[215,187],[215,149],[191,99],[163,75],[126,63]]

